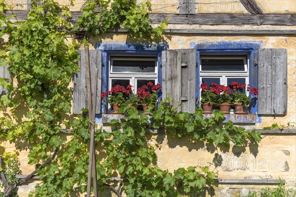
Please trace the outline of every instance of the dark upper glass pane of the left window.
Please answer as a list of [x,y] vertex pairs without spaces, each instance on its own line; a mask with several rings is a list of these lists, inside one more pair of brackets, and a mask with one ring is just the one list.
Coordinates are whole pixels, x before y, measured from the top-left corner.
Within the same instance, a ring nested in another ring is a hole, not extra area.
[[112,72],[155,72],[155,60],[113,60]]

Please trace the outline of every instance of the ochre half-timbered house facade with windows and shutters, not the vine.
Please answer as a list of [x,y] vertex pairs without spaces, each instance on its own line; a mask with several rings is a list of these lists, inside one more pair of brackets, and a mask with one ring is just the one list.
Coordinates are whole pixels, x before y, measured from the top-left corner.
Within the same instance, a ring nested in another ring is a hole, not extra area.
[[[61,4],[62,0],[57,0]],[[25,20],[30,10],[27,1],[8,0],[17,18]],[[73,20],[84,0],[74,0]],[[152,0],[153,24],[168,20],[167,39],[161,43],[136,43],[125,30],[110,30],[108,36],[94,37],[90,46],[90,66],[97,68],[97,91],[105,92],[116,84],[140,87],[147,81],[162,85],[159,99],[169,96],[178,110],[193,113],[200,101],[200,83],[229,85],[236,80],[259,89],[258,100],[243,115],[230,113],[226,121],[248,129],[296,123],[296,1],[295,0]],[[7,13],[9,14],[9,13]],[[79,50],[80,72],[74,76],[73,113],[87,107],[84,50]],[[215,62],[227,62],[213,69]],[[207,63],[207,64],[206,64]],[[129,64],[145,64],[135,69]],[[211,65],[212,64],[212,65]],[[208,67],[207,67],[208,66]],[[210,68],[212,66],[212,68]],[[91,72],[95,75],[95,72]],[[9,73],[0,67],[1,77]],[[93,77],[94,78],[94,77]],[[11,80],[11,79],[10,79]],[[0,94],[5,90],[0,89]],[[108,130],[110,106],[98,94],[96,123]],[[182,104],[180,106],[179,104]],[[249,189],[274,186],[278,177],[288,187],[296,184],[296,131],[261,130],[265,136],[259,146],[247,149],[221,147],[222,165],[218,167],[216,196],[247,194]],[[171,171],[189,165],[208,165],[215,152],[211,147],[184,139],[168,139],[164,133],[162,149],[157,150],[158,165]],[[14,146],[7,145],[7,149]],[[26,153],[20,158],[26,159]],[[34,166],[23,164],[23,174]],[[36,180],[37,182],[37,180]],[[25,197],[36,182],[22,186]]]

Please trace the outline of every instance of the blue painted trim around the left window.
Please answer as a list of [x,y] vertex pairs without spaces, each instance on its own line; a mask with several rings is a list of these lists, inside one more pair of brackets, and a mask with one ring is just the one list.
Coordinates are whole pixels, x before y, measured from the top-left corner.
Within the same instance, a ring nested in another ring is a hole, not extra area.
[[[109,58],[110,55],[155,55],[158,62],[158,83],[162,85],[162,51],[168,49],[167,42],[148,44],[146,42],[98,42],[96,49],[102,51],[102,92],[109,89]],[[158,95],[161,98],[161,92]],[[107,112],[107,103],[103,103],[101,114],[97,114],[96,123],[102,122],[102,113]],[[97,118],[98,117],[98,118]]]

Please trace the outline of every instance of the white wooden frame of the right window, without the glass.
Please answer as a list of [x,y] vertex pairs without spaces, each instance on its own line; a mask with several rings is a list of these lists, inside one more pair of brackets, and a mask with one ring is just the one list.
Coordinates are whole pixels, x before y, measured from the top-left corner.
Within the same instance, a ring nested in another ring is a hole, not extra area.
[[[217,55],[222,55],[222,54],[217,54]],[[225,55],[225,54],[223,54]],[[211,56],[204,56],[200,57],[199,61],[199,78],[200,78],[200,83],[202,83],[203,78],[219,78],[220,79],[220,84],[227,86],[227,79],[228,78],[242,78],[245,79],[246,84],[249,84],[249,59],[247,56],[231,56],[232,54],[227,54],[227,57],[219,57],[215,55]],[[234,54],[233,54],[234,55]],[[201,65],[201,60],[202,59],[243,59],[244,60],[244,71],[202,71],[202,65]],[[201,89],[200,93],[201,95]],[[249,92],[246,91],[246,95],[249,96]]]

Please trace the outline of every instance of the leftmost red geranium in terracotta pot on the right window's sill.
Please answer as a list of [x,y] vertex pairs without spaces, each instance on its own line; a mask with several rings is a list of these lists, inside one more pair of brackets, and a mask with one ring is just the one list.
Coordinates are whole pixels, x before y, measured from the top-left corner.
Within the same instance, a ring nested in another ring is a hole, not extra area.
[[200,84],[201,88],[201,105],[204,110],[204,114],[212,114],[214,102],[217,100],[217,95],[208,90],[208,83],[204,82]]

